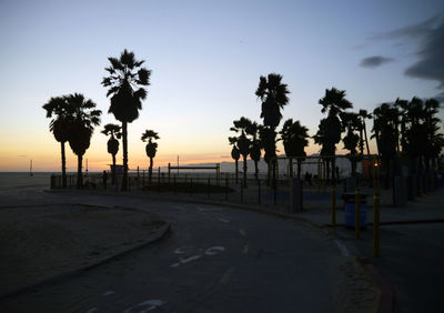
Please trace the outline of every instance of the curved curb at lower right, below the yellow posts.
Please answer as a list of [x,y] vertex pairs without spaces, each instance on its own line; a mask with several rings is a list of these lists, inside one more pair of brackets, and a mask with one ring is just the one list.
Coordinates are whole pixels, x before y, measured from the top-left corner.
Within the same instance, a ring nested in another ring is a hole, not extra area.
[[382,277],[376,267],[373,266],[373,264],[369,263],[369,261],[362,258],[356,258],[356,261],[369,273],[373,282],[376,284],[377,289],[380,290],[380,301],[377,305],[377,312],[392,313],[394,310],[394,300],[395,300],[393,286]]

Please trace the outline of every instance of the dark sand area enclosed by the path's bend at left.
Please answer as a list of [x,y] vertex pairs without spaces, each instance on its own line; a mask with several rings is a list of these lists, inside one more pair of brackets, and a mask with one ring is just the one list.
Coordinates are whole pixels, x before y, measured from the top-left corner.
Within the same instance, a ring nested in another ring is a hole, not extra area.
[[144,242],[162,225],[154,214],[80,204],[0,210],[0,295]]

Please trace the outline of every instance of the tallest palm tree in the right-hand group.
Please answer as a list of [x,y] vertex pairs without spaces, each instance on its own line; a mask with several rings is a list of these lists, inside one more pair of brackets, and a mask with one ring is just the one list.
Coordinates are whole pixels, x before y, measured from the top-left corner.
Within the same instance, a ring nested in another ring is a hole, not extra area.
[[[255,95],[261,99],[262,109],[261,118],[263,118],[264,129],[262,134],[266,138],[264,144],[265,155],[264,159],[269,164],[270,173],[270,161],[276,156],[276,128],[282,120],[281,109],[289,103],[290,93],[286,83],[282,83],[282,75],[276,73],[270,73],[268,78],[260,77],[259,87],[255,91]],[[273,162],[273,182],[275,180],[275,166],[276,161]],[[270,181],[270,178],[269,178]]]

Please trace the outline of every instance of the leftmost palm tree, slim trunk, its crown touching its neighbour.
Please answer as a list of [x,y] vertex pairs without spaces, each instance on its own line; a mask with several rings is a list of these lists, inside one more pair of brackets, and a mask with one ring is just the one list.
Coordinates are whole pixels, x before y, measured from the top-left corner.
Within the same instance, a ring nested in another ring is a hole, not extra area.
[[42,105],[47,110],[47,118],[54,118],[49,124],[49,130],[54,135],[56,140],[60,142],[61,156],[62,156],[62,188],[67,188],[67,159],[64,153],[64,143],[69,139],[70,125],[70,107],[63,97],[51,98],[46,104]]

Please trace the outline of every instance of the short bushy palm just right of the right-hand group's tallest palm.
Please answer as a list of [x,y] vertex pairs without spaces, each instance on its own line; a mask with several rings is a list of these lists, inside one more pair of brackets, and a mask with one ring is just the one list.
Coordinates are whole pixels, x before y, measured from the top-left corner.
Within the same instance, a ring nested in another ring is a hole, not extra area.
[[[293,123],[293,119],[289,119],[282,127],[280,132],[284,144],[285,155],[287,158],[297,158],[297,178],[301,178],[302,161],[305,160],[305,147],[309,145],[309,129],[301,125],[300,121]],[[290,176],[293,176],[293,160],[290,160]]]

